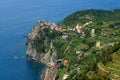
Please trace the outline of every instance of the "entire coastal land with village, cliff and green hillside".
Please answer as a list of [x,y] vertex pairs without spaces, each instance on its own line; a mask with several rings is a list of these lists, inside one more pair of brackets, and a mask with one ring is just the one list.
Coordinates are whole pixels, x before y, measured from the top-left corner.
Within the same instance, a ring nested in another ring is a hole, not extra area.
[[[47,65],[42,80],[120,80],[119,13],[86,10],[58,24],[39,20],[28,35],[27,56]],[[116,76],[106,75],[111,70]]]

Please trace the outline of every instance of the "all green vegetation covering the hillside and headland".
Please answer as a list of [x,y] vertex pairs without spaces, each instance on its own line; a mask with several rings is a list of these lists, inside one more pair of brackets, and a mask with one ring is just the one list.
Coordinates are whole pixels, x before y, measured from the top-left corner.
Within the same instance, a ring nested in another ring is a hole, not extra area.
[[[78,24],[80,32],[75,29]],[[68,75],[66,80],[109,80],[116,79],[113,74],[120,76],[120,10],[77,11],[58,25],[66,31],[44,28],[33,40],[38,53],[47,52],[52,42],[56,59],[69,61],[61,64],[56,80],[62,80],[64,74]],[[112,73],[102,76],[98,64]]]

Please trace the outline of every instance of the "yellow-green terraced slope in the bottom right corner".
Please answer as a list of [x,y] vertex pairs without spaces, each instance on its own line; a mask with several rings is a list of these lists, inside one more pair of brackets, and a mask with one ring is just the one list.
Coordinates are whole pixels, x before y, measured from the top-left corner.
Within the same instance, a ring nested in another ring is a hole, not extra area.
[[112,61],[98,64],[99,72],[111,80],[120,80],[120,49],[112,54]]

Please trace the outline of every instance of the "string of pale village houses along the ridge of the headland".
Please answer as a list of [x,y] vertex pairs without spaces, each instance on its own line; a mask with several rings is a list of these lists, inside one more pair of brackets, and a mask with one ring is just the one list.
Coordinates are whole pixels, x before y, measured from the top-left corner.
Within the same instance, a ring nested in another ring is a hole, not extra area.
[[[81,26],[80,24],[77,24],[75,28],[61,28],[58,25],[56,25],[55,23],[52,23],[49,21],[38,20],[38,23],[40,23],[41,26],[49,27],[51,30],[56,30],[56,31],[61,31],[61,32],[75,31],[77,33],[81,33],[82,36],[85,36],[86,34],[82,29],[93,22],[89,21],[89,22],[85,23],[83,26]],[[92,29],[90,34],[91,34],[91,37],[94,37],[95,36],[95,29]],[[68,35],[63,35],[62,39],[66,39],[67,37],[68,37]]]

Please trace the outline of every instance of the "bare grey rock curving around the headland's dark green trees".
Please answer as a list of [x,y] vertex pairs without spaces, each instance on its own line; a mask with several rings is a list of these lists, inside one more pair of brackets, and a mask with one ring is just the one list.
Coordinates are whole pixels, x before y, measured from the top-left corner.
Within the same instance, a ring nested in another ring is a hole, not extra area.
[[46,56],[46,54],[49,53],[49,51],[47,51],[46,53],[42,52],[37,53],[36,49],[32,47],[33,40],[40,36],[39,30],[48,27],[50,27],[51,30],[53,29],[60,30],[60,28],[55,23],[39,20],[37,24],[34,26],[34,28],[31,30],[31,32],[28,34],[26,42],[27,46],[26,54],[29,60],[37,61],[44,64],[47,64],[49,62],[48,60],[50,59],[51,56],[49,54]]

